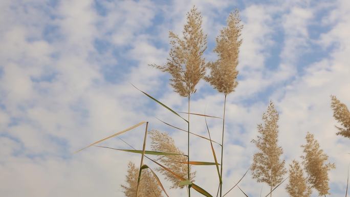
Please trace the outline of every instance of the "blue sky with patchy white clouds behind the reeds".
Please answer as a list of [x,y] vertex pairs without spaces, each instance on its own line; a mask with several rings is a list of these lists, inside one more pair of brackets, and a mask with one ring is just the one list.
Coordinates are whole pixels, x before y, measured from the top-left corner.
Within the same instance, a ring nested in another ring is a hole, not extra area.
[[[123,196],[127,163],[139,163],[139,155],[97,147],[73,153],[141,121],[169,132],[185,151],[187,134],[155,117],[181,128],[186,123],[130,83],[174,110],[186,111],[187,100],[172,92],[169,75],[147,64],[166,62],[168,31],[181,34],[193,5],[202,12],[208,34],[208,61],[216,58],[215,37],[229,13],[238,8],[244,24],[239,84],[227,103],[224,191],[251,164],[256,148],[250,141],[272,100],[280,115],[283,159],[287,164],[300,161],[305,135],[314,134],[337,167],[330,172],[332,196],[343,196],[349,146],[348,139],[335,135],[330,95],[350,106],[348,0],[1,1],[1,195]],[[222,116],[223,95],[204,81],[197,89],[192,112]],[[206,135],[204,119],[191,120],[191,130]],[[219,141],[221,121],[208,123]],[[143,129],[121,137],[141,148]],[[103,145],[127,148],[119,139]],[[213,160],[207,141],[191,137],[191,147],[193,160]],[[215,167],[195,169],[196,183],[215,193]],[[269,190],[250,174],[239,186],[250,196],[259,196],[261,187],[263,194]],[[284,187],[275,196],[288,196]],[[186,190],[168,193],[186,196]],[[228,196],[244,195],[233,189]]]

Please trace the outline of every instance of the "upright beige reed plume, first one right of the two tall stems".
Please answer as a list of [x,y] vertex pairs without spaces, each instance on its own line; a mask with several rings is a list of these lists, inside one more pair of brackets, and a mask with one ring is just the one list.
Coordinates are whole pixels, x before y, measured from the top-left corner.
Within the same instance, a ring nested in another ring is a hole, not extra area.
[[264,182],[270,186],[270,196],[272,196],[272,187],[281,183],[283,175],[287,172],[285,160],[281,161],[282,147],[278,146],[278,113],[274,104],[270,101],[267,112],[262,115],[264,124],[258,124],[257,140],[253,140],[259,149],[254,154],[251,167],[252,177],[257,182]]

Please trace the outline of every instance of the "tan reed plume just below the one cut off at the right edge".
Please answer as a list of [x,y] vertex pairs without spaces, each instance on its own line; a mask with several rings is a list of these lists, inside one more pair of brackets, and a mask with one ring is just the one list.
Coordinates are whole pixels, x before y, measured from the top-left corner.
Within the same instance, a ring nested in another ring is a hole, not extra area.
[[318,191],[318,194],[326,195],[330,194],[328,182],[328,171],[335,168],[334,163],[327,163],[328,156],[324,154],[323,150],[320,149],[320,145],[317,140],[314,139],[314,135],[308,132],[305,137],[307,144],[302,145],[304,148],[304,156],[302,164],[304,165],[305,171],[308,173],[308,183],[312,185]]

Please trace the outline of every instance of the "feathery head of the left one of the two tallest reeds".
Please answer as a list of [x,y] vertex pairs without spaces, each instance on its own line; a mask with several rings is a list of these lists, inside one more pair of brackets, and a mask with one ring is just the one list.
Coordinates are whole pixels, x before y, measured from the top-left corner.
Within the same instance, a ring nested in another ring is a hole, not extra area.
[[187,13],[183,38],[169,32],[171,49],[167,63],[152,64],[157,69],[171,74],[171,86],[183,97],[188,97],[196,91],[195,85],[205,74],[202,55],[207,48],[207,35],[204,35],[201,26],[201,13],[193,6]]

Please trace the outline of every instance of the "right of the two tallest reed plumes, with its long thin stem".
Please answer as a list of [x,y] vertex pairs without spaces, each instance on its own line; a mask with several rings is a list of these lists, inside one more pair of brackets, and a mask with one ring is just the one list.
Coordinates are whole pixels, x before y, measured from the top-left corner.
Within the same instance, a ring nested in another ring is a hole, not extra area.
[[[236,9],[231,12],[226,20],[227,26],[223,28],[220,35],[216,37],[216,47],[214,52],[217,53],[218,59],[215,62],[208,62],[207,67],[210,69],[210,75],[204,79],[208,81],[214,89],[220,93],[224,93],[224,116],[223,116],[223,131],[222,131],[222,146],[221,146],[221,177],[223,174],[223,152],[224,152],[224,128],[225,128],[225,108],[226,97],[234,91],[237,86],[236,70],[238,64],[239,46],[242,39],[239,39],[240,31],[243,26],[240,25],[239,12]],[[222,196],[222,183],[220,183],[220,196]]]

